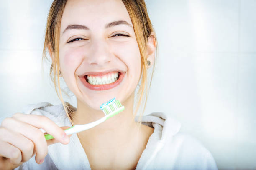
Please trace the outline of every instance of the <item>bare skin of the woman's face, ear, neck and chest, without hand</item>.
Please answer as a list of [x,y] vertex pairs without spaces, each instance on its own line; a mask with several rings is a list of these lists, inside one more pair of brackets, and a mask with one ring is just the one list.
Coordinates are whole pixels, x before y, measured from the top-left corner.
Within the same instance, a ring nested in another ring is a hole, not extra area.
[[[113,10],[115,9],[115,10]],[[110,28],[105,25],[123,20]],[[89,30],[69,29],[70,24],[85,25]],[[64,33],[63,33],[64,32]],[[127,36],[113,36],[124,34]],[[75,38],[77,41],[70,42]],[[70,43],[67,43],[70,42]],[[50,46],[49,46],[50,48]],[[147,57],[154,62],[156,43],[150,37]],[[50,54],[53,56],[53,53]],[[96,127],[78,133],[92,169],[135,169],[154,128],[133,120],[135,88],[141,76],[141,56],[133,24],[121,0],[69,0],[61,19],[59,43],[60,70],[69,89],[77,97],[74,124],[85,124],[100,119],[103,102],[116,97],[125,110]],[[85,87],[79,75],[120,69],[125,77],[120,85],[109,90]]]

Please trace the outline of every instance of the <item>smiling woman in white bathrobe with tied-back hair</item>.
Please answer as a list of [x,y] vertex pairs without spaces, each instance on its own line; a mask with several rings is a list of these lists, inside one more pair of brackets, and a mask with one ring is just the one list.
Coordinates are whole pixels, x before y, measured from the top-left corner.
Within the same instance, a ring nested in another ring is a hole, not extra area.
[[[1,166],[42,170],[216,169],[207,149],[178,133],[176,120],[158,112],[134,116],[146,102],[148,68],[155,63],[156,46],[143,0],[54,0],[47,20],[44,56],[48,49],[51,76],[62,105],[28,105],[22,113],[3,120]],[[77,97],[77,108],[63,101],[60,76]],[[140,89],[133,111],[137,85]],[[72,125],[100,119],[100,105],[113,97],[125,106],[123,112],[92,129],[66,135],[64,129]],[[54,139],[46,141],[38,128]]]

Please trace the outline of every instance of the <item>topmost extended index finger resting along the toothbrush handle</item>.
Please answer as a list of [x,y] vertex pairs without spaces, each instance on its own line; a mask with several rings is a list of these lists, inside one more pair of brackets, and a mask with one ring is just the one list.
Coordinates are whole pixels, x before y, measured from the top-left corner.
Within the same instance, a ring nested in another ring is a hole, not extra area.
[[69,138],[64,130],[46,116],[16,113],[12,117],[22,122],[26,122],[36,128],[44,129],[47,133],[51,134],[56,140],[63,144],[69,143]]

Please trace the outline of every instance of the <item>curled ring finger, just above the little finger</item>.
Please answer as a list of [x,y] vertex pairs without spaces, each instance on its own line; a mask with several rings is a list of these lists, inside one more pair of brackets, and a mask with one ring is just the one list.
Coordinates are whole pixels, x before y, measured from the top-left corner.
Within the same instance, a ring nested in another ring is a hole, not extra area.
[[10,143],[21,151],[22,162],[26,162],[32,157],[34,144],[20,133],[13,132],[5,127],[0,127],[0,139],[6,143]]

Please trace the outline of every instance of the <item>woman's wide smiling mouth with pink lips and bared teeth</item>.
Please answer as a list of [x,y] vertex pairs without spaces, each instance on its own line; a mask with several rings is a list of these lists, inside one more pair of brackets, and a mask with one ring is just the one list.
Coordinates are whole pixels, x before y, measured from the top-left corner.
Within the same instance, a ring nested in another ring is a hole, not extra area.
[[108,90],[119,85],[125,72],[109,72],[104,75],[85,75],[79,77],[83,85],[91,90]]

